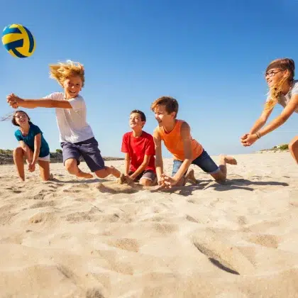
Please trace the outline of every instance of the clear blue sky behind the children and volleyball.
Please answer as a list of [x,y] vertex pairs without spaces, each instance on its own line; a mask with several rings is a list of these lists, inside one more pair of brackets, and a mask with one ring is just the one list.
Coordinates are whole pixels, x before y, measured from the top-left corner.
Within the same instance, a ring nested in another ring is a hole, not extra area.
[[[150,104],[162,95],[179,101],[178,118],[211,155],[250,153],[297,135],[294,114],[250,148],[239,141],[263,109],[267,64],[292,57],[298,65],[297,0],[0,1],[1,27],[21,23],[36,40],[26,59],[0,50],[0,116],[12,111],[11,92],[38,99],[60,91],[48,65],[70,59],[85,66],[82,96],[103,156],[123,156],[133,109],[145,112],[145,131],[153,133]],[[26,111],[50,149],[60,148],[54,109]],[[277,106],[270,120],[281,111]],[[0,126],[0,148],[15,148],[16,127]]]

